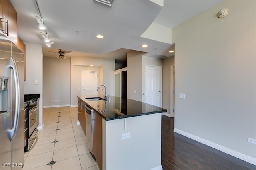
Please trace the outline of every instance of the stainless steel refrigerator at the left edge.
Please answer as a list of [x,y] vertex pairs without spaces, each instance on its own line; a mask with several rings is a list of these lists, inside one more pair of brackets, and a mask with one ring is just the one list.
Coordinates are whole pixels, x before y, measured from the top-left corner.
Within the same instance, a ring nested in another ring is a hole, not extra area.
[[0,170],[24,162],[23,52],[0,32]]

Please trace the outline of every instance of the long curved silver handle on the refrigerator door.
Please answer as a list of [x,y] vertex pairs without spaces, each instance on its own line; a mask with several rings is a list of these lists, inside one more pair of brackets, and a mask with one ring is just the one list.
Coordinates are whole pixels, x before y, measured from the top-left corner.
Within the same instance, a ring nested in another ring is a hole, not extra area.
[[13,69],[14,74],[14,85],[15,85],[15,115],[14,115],[14,124],[13,127],[8,130],[8,136],[10,141],[15,137],[18,129],[18,120],[20,118],[20,82],[19,82],[19,73],[16,62],[13,57],[10,56],[10,68]]

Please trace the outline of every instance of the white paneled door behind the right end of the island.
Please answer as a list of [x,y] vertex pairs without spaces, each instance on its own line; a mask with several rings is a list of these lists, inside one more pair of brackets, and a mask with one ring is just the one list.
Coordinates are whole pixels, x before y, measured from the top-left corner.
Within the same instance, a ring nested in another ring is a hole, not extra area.
[[146,103],[162,107],[162,67],[146,66]]

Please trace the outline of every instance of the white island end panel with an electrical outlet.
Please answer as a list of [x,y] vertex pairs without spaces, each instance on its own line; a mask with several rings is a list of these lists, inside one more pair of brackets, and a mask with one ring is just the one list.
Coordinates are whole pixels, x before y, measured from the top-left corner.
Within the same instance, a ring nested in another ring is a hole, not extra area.
[[162,170],[161,113],[103,120],[103,126],[103,170]]

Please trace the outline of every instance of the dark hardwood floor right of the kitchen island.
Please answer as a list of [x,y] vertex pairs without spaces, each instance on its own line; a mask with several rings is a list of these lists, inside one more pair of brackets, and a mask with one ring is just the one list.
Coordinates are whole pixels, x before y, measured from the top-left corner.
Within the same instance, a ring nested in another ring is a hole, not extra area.
[[256,166],[173,132],[174,118],[162,115],[163,170],[256,170]]

